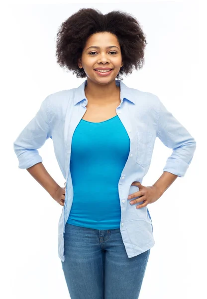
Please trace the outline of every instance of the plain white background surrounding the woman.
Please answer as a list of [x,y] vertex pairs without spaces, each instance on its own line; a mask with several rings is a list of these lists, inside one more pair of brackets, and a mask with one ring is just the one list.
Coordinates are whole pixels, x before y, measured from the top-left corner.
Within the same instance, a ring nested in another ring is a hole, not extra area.
[[[47,95],[85,81],[61,69],[55,57],[58,27],[82,7],[137,17],[148,42],[145,64],[123,82],[156,94],[197,142],[185,176],[148,205],[155,245],[139,299],[207,298],[207,11],[199,1],[0,5],[0,298],[69,298],[57,251],[62,206],[26,169],[18,168],[13,142]],[[39,152],[45,168],[64,187],[52,140]],[[143,185],[160,177],[171,152],[156,140]]]

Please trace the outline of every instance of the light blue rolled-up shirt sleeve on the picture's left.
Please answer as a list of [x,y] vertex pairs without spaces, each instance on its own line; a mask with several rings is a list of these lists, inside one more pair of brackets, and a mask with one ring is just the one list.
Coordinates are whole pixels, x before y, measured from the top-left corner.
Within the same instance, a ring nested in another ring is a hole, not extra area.
[[35,117],[13,143],[19,168],[29,168],[36,163],[42,162],[42,157],[37,149],[41,148],[48,138],[52,139],[49,119],[49,96],[47,96],[41,103]]

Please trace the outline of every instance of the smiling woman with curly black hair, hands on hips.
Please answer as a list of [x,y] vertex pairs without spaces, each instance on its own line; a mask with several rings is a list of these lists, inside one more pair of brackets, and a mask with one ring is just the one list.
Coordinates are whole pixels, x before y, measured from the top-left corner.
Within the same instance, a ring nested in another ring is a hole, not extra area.
[[[155,244],[147,205],[185,175],[196,149],[156,95],[120,79],[142,67],[145,46],[130,14],[83,8],[70,16],[58,32],[57,61],[87,79],[47,96],[14,142],[19,168],[63,206],[58,254],[71,299],[139,297]],[[173,151],[160,178],[143,186],[156,137]],[[65,188],[37,150],[48,138]]]

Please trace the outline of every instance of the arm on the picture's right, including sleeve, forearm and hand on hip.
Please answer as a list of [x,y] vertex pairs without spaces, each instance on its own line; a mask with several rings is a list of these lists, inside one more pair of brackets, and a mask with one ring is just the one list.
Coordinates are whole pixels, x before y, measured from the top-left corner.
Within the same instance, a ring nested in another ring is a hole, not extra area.
[[154,185],[146,187],[137,181],[132,183],[139,188],[139,191],[130,194],[128,199],[140,196],[140,198],[133,200],[132,204],[141,202],[145,198],[144,203],[140,204],[138,208],[155,202],[178,176],[185,175],[196,149],[195,139],[165,108],[157,96],[156,98],[159,105],[156,137],[173,151],[163,168],[163,174]]

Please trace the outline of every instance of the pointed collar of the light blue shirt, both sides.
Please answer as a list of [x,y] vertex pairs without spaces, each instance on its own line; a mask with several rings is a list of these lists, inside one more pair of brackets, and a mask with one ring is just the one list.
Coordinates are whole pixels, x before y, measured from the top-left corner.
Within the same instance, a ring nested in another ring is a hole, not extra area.
[[[88,81],[87,79],[75,89],[75,97],[74,97],[74,106],[79,103],[80,101],[83,101],[86,99],[85,95],[85,86],[87,85]],[[127,87],[121,80],[115,80],[116,86],[120,87],[120,100],[121,103],[123,102],[123,99],[127,99],[128,101],[135,104],[134,101],[134,93],[133,88]],[[87,99],[86,99],[87,100]]]

